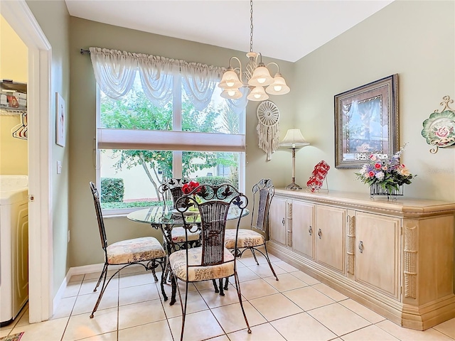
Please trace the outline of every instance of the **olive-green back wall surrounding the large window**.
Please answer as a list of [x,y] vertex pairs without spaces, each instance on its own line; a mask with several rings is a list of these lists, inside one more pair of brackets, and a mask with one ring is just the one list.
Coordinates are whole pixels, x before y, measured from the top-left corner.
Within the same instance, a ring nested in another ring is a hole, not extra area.
[[[245,49],[248,42],[245,41]],[[80,49],[90,46],[126,50],[135,53],[161,55],[166,58],[182,59],[188,62],[208,65],[228,66],[229,58],[236,55],[247,61],[245,53],[218,48],[213,45],[193,43],[188,40],[159,36],[156,34],[96,23],[81,18],[70,19],[70,266],[101,263],[102,252],[97,232],[97,221],[93,200],[88,187],[95,181],[95,76],[90,56],[81,55]],[[265,62],[272,61],[264,58]],[[286,77],[289,86],[294,87],[294,64],[281,60],[280,72]],[[292,90],[291,90],[292,91]],[[294,117],[292,97],[271,97],[282,111],[282,125],[291,127]],[[259,102],[251,102],[247,107],[247,165],[246,192],[262,177],[271,177],[277,185],[285,185],[291,177],[291,154],[289,151],[274,153],[272,161],[266,161],[266,154],[257,148],[256,109]],[[287,128],[286,128],[287,129]],[[282,137],[286,130],[282,130]],[[249,220],[244,220],[249,223]],[[161,232],[151,231],[151,227],[130,222],[126,217],[105,219],[109,242],[132,237],[153,235],[161,239]]]

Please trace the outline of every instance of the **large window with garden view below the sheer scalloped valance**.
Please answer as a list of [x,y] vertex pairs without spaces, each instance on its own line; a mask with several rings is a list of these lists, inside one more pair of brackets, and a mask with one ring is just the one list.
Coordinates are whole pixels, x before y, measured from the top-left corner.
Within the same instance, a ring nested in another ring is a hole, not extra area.
[[97,90],[97,183],[107,214],[156,205],[159,185],[171,177],[221,176],[244,191],[245,110],[232,112],[218,87],[198,110],[182,77],[173,75],[172,83],[171,99],[159,106],[144,94],[139,74],[120,99]]

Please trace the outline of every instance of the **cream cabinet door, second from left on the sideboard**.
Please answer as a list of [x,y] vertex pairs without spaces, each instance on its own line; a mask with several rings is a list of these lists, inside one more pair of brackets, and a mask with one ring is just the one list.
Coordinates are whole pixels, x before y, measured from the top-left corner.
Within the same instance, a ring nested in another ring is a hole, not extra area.
[[314,259],[314,204],[292,200],[292,249]]

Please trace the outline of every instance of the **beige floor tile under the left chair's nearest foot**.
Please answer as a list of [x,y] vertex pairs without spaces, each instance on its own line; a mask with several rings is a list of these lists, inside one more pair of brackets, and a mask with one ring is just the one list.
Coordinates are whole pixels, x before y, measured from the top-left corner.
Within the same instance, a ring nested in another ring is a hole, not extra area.
[[94,318],[89,318],[87,314],[72,315],[65,330],[65,335],[63,335],[63,341],[79,340],[85,337],[114,332],[117,330],[117,322],[117,308],[98,310]]

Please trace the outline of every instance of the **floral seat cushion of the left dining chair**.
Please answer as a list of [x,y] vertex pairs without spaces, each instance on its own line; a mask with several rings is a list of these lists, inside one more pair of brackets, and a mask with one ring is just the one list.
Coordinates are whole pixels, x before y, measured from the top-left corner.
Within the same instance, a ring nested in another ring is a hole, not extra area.
[[122,240],[110,244],[106,251],[107,264],[127,264],[166,256],[163,246],[154,237]]

